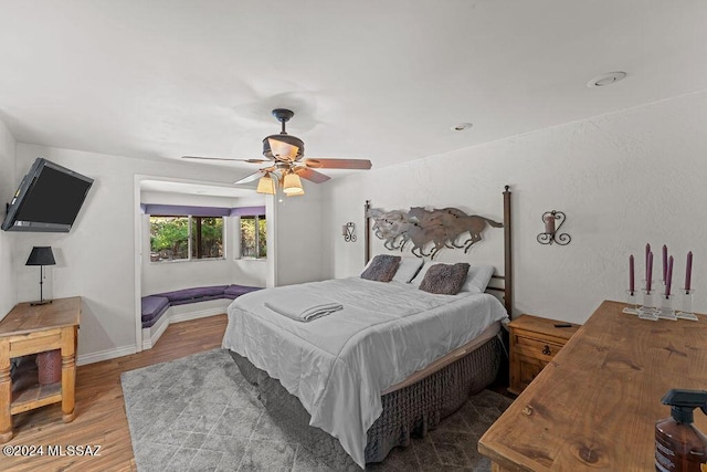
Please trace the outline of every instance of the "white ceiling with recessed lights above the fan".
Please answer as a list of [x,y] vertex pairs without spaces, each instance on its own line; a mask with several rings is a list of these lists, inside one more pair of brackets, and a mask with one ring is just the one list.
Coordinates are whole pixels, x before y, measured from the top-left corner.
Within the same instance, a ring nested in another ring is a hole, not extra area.
[[[707,88],[703,0],[0,0],[0,119],[22,143],[374,168]],[[594,76],[625,71],[611,86]],[[473,123],[464,132],[451,129]],[[181,160],[181,159],[180,159]],[[221,165],[233,179],[256,170]],[[327,172],[334,176],[334,172]]]

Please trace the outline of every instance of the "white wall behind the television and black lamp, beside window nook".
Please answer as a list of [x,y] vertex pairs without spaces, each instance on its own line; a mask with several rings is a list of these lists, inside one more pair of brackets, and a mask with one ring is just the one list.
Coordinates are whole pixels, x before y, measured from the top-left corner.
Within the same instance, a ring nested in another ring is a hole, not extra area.
[[[13,187],[36,157],[95,179],[70,233],[6,233],[14,244],[11,272],[17,275],[18,300],[38,297],[38,269],[24,266],[33,245],[54,248],[56,265],[48,271],[49,296],[84,298],[78,355],[101,356],[135,350],[136,296],[135,175],[232,181],[223,169],[182,162],[148,161],[70,149],[17,145]],[[2,269],[4,270],[4,268]]]

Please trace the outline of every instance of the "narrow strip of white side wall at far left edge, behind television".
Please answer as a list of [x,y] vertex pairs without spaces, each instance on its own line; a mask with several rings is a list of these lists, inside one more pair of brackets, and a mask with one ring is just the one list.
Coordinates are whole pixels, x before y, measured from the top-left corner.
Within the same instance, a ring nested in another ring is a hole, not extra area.
[[[13,192],[20,185],[14,179],[15,140],[0,122],[0,204],[12,200]],[[29,255],[29,253],[27,254]],[[18,281],[14,274],[14,260],[22,259],[14,252],[14,240],[4,231],[0,231],[0,319],[2,319],[18,302]],[[23,262],[27,262],[27,256]],[[38,276],[39,282],[39,276]]]

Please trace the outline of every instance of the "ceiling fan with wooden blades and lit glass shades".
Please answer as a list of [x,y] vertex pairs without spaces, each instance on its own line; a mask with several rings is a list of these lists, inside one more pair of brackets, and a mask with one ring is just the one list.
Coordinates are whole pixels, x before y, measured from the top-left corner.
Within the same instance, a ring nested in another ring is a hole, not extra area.
[[368,159],[305,159],[305,144],[296,136],[288,135],[285,130],[285,123],[295,113],[286,108],[273,109],[273,116],[282,124],[282,129],[276,135],[270,135],[263,139],[264,159],[231,159],[225,157],[199,157],[182,156],[183,159],[208,159],[208,160],[234,160],[250,164],[268,164],[256,172],[251,174],[235,183],[246,183],[255,179],[258,193],[275,195],[277,188],[288,197],[304,195],[300,177],[321,183],[329,180],[314,169],[370,169],[371,161]]

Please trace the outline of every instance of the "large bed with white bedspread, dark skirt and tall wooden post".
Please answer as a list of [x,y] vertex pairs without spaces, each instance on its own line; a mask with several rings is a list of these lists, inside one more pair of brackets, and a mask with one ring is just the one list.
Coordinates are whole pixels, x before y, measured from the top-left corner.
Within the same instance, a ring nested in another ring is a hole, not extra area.
[[[506,188],[506,234],[509,196]],[[312,427],[307,436],[323,455],[337,457],[337,469],[350,469],[351,462],[365,468],[493,382],[510,303],[509,242],[507,237],[506,306],[483,293],[488,280],[476,287],[471,276],[454,295],[419,290],[424,273],[412,283],[358,276],[313,282],[234,301],[223,347],[263,399]],[[288,301],[338,308],[303,323],[275,310]],[[323,438],[328,445],[321,447]]]

